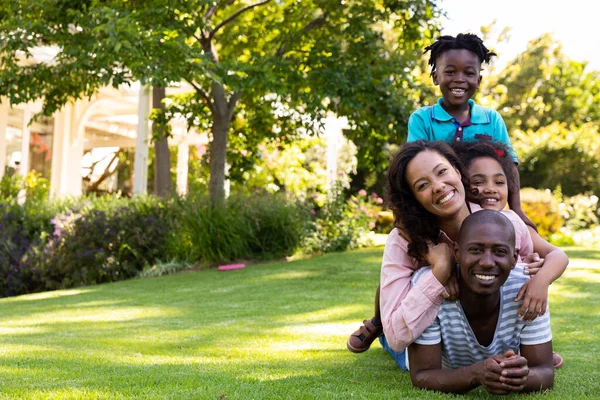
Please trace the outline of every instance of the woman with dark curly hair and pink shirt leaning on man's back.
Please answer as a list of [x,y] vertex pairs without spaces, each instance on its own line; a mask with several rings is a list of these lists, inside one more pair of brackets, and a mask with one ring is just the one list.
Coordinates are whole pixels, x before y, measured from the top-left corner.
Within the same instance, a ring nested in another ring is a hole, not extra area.
[[[455,292],[451,249],[463,220],[479,209],[467,203],[465,187],[466,171],[445,142],[407,143],[394,157],[386,195],[395,228],[383,254],[381,298],[376,300],[381,317],[365,321],[352,334],[351,351],[367,350],[383,329],[382,346],[406,369],[404,350],[431,325],[448,292]],[[517,232],[517,244],[521,255],[532,252],[526,230]],[[422,265],[430,265],[431,271],[411,286],[412,274]]]

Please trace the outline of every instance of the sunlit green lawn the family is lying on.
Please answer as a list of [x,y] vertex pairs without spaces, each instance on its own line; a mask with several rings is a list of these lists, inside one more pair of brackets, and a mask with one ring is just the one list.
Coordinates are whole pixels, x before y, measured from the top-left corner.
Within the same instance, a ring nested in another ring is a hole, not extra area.
[[[536,398],[600,394],[600,251],[567,251],[571,266],[550,293],[566,366]],[[346,350],[372,313],[381,252],[0,299],[0,397],[459,397],[413,389],[378,344]]]

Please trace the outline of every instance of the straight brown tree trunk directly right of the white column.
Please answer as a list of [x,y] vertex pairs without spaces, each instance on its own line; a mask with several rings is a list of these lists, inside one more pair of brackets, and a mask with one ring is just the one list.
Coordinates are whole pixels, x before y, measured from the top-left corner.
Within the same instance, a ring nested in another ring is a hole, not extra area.
[[[165,109],[165,88],[152,88],[152,108]],[[158,129],[158,130],[157,130]],[[152,126],[154,137],[154,194],[166,197],[171,194],[171,156],[166,129]]]

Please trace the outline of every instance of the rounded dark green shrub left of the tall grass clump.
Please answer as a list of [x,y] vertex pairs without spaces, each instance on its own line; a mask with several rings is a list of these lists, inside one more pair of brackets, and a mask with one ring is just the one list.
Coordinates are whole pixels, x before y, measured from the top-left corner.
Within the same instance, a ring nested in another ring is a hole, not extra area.
[[163,255],[167,208],[151,197],[128,202],[87,201],[52,219],[54,230],[34,257],[44,289],[131,278]]

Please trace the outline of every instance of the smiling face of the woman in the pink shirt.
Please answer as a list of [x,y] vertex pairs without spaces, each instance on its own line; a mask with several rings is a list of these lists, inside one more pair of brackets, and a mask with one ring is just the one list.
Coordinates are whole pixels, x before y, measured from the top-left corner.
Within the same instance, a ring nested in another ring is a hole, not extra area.
[[417,154],[406,165],[405,180],[417,201],[433,215],[451,217],[465,206],[460,173],[436,151]]

